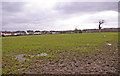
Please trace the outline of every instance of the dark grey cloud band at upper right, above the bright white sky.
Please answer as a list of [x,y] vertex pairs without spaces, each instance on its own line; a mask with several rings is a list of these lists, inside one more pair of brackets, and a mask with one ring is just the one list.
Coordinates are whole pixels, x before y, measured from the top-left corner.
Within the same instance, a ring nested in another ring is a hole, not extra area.
[[56,10],[61,11],[62,13],[81,13],[81,12],[100,12],[108,10],[118,10],[117,2],[67,2],[58,3]]

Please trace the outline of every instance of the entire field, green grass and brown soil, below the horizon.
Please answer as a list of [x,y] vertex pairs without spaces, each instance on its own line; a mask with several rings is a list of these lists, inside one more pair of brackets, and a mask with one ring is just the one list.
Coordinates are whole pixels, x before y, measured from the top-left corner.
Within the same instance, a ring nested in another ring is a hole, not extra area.
[[116,73],[117,44],[118,33],[3,37],[2,73]]

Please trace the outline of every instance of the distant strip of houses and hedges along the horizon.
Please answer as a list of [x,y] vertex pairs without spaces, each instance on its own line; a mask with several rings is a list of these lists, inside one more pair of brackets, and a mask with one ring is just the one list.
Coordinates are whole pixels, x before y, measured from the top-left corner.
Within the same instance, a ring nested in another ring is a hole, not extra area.
[[[1,36],[21,36],[21,35],[45,35],[45,34],[72,34],[72,33],[97,33],[98,29],[84,29],[84,30],[67,30],[67,31],[33,31],[27,30],[25,31],[0,31]],[[104,28],[101,29],[101,32],[120,32],[120,28]]]

